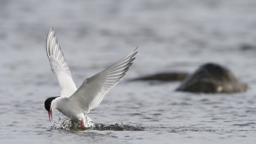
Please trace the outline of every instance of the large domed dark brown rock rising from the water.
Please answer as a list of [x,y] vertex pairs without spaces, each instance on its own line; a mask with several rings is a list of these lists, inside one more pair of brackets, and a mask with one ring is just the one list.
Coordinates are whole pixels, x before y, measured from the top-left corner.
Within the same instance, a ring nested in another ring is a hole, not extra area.
[[219,64],[208,63],[200,68],[176,89],[187,92],[244,92],[248,89],[246,83],[240,82],[227,68]]

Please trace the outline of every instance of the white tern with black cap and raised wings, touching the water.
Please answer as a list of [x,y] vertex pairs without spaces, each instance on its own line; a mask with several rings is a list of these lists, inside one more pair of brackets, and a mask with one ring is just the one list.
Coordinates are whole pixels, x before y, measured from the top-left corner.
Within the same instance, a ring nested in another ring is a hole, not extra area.
[[49,97],[45,100],[45,109],[52,120],[52,110],[57,109],[70,119],[86,125],[86,115],[101,103],[107,92],[124,77],[137,54],[137,48],[104,71],[86,78],[77,89],[72,80],[66,59],[61,52],[53,27],[46,40],[46,52],[51,64],[51,70],[56,74],[61,87],[60,96]]

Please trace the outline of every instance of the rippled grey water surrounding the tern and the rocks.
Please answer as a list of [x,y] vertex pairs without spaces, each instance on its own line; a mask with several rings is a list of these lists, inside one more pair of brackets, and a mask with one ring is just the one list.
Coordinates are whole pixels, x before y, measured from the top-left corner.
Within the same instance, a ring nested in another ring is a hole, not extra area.
[[[1,143],[255,143],[256,1],[0,1]],[[77,87],[134,48],[122,82],[88,113],[92,129],[61,129],[44,101],[59,96],[45,39],[54,26]],[[164,71],[227,66],[250,89],[175,92],[180,82],[129,82]]]

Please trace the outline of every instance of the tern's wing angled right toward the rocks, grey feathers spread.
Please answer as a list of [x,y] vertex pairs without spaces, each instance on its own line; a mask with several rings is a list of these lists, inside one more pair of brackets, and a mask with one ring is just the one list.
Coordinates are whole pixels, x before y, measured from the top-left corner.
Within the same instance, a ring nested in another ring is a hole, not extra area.
[[81,87],[70,96],[70,101],[78,104],[87,113],[99,106],[107,92],[120,82],[132,65],[135,59],[132,57],[137,54],[136,50],[137,48],[104,71],[86,78]]

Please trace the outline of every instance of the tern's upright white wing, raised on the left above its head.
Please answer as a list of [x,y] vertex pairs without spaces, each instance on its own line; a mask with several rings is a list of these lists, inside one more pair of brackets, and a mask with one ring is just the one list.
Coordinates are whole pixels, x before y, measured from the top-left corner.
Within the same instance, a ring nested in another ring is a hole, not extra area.
[[52,72],[56,73],[61,87],[61,96],[69,97],[76,92],[76,84],[72,80],[66,59],[61,52],[53,27],[46,40],[46,52],[51,64]]

